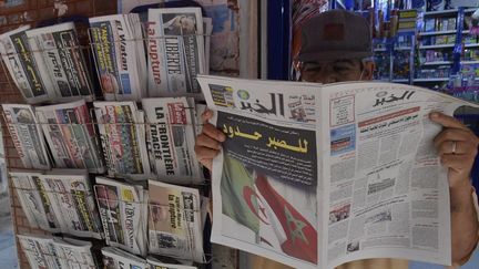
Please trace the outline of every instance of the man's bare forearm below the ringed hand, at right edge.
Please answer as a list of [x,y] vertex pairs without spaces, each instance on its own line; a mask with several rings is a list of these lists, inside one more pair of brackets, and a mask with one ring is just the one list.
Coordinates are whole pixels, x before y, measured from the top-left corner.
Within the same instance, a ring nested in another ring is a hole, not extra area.
[[478,217],[472,199],[472,186],[463,180],[460,186],[450,190],[452,261],[465,259],[478,241]]

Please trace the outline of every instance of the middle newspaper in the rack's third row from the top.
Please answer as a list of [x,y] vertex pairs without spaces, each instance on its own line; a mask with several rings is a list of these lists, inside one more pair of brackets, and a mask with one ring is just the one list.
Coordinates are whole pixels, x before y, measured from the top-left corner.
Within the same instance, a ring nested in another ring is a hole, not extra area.
[[141,186],[96,177],[96,203],[106,244],[146,255],[146,194]]

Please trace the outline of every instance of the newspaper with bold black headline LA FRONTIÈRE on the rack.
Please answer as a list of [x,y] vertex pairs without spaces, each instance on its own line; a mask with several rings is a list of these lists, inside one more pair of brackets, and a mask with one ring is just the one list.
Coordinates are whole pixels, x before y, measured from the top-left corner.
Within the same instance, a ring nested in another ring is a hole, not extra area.
[[147,148],[153,172],[162,180],[200,183],[200,163],[194,153],[193,99],[143,99],[147,120]]

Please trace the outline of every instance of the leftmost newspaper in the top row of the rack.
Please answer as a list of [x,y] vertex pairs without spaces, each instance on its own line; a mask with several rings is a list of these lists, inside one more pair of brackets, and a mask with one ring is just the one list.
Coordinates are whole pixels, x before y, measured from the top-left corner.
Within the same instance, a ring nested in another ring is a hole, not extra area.
[[33,58],[26,31],[30,27],[20,27],[0,34],[0,54],[14,84],[28,103],[41,103],[54,97],[50,77],[43,69],[44,62]]

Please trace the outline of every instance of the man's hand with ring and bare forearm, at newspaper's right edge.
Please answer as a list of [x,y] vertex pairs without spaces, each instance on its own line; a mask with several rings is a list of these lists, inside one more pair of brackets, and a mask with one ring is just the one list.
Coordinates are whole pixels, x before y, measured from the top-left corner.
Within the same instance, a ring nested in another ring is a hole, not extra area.
[[478,213],[472,201],[470,174],[479,138],[451,116],[431,113],[430,120],[445,127],[434,144],[442,165],[449,168],[452,262],[463,263],[478,242]]

